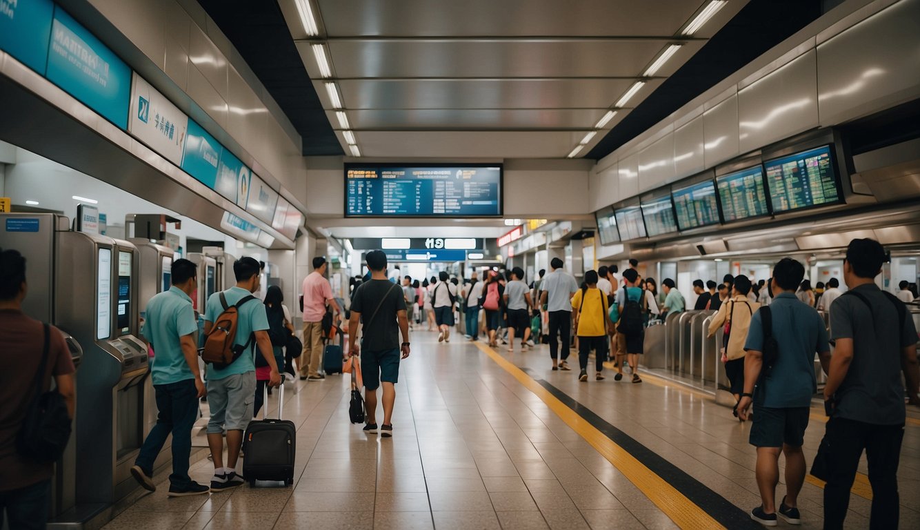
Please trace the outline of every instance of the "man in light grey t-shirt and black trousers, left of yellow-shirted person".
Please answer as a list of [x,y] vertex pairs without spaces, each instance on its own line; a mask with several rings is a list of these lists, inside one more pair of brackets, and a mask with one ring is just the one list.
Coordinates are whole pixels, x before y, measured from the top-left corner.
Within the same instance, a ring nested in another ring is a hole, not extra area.
[[[571,298],[578,291],[575,278],[562,270],[562,259],[553,258],[549,263],[553,271],[546,274],[541,284],[540,304],[546,305],[549,313],[549,356],[553,359],[553,370],[569,370],[569,340],[572,329]],[[557,338],[562,335],[562,353],[559,355]]]

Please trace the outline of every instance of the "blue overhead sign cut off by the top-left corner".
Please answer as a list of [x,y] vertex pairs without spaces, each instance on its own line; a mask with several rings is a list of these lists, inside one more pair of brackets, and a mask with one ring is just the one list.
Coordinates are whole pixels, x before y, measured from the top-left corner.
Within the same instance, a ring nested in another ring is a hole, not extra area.
[[53,15],[51,0],[0,0],[0,50],[44,75]]

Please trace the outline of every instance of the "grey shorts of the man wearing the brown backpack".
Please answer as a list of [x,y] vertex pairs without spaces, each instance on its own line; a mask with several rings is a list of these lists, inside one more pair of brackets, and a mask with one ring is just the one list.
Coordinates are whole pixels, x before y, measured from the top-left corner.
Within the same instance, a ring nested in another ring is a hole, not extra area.
[[256,373],[227,375],[223,379],[208,379],[208,405],[211,420],[208,434],[246,431],[252,420],[256,399]]

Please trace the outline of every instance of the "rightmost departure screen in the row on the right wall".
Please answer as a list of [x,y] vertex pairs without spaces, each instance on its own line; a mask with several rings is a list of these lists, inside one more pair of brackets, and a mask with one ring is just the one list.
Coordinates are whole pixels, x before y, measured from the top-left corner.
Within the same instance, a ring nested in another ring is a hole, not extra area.
[[774,213],[834,204],[843,198],[829,145],[768,160],[764,167]]

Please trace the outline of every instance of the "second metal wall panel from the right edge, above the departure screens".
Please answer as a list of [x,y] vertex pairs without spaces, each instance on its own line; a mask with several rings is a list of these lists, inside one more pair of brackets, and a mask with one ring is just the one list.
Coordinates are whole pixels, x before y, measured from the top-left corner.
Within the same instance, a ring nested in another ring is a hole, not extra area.
[[738,91],[742,153],[818,126],[816,57],[811,49]]

